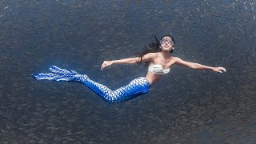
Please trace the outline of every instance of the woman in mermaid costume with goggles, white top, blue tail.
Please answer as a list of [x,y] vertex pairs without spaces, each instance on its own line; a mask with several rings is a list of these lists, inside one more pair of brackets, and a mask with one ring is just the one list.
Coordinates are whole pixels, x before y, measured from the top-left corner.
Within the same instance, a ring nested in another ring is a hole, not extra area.
[[128,85],[122,86],[117,90],[110,90],[106,86],[94,82],[88,78],[86,74],[78,74],[74,70],[60,69],[57,66],[50,66],[51,73],[41,73],[32,76],[38,80],[47,79],[52,81],[81,82],[106,102],[114,103],[125,102],[138,95],[146,94],[150,86],[158,82],[162,75],[168,74],[170,67],[175,64],[191,69],[213,70],[219,73],[222,73],[222,71],[226,72],[226,69],[223,67],[204,66],[194,62],[186,62],[181,58],[172,56],[171,53],[174,51],[174,38],[170,35],[164,35],[160,42],[155,36],[154,38],[157,42],[151,43],[150,50],[144,51],[139,57],[104,61],[102,63],[102,70],[107,66],[118,63],[134,64],[147,62],[149,64],[146,77],[135,78]]

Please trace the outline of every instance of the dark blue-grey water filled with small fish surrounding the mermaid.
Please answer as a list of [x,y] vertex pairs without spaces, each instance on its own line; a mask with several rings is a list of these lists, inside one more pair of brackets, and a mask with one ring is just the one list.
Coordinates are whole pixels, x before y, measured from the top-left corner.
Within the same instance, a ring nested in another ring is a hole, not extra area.
[[[254,143],[254,0],[2,0],[1,143]],[[104,60],[134,57],[172,34],[174,55],[227,72],[174,66],[150,92],[109,105],[86,86],[35,81],[56,65],[112,89],[146,67]]]

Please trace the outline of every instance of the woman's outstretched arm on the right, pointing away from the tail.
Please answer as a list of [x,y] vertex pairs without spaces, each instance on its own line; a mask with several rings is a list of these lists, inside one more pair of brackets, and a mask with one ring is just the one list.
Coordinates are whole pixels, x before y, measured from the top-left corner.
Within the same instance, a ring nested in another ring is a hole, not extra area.
[[179,66],[185,66],[189,67],[191,69],[198,69],[198,70],[214,70],[216,72],[222,73],[222,71],[226,72],[226,69],[224,67],[212,67],[212,66],[204,66],[199,63],[194,62],[186,62],[183,61],[181,58],[175,57],[175,64]]

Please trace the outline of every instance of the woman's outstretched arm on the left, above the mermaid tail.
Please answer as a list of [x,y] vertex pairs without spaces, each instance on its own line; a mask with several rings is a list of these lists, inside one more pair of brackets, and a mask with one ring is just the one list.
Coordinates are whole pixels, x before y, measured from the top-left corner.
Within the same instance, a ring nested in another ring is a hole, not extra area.
[[[142,62],[150,62],[154,58],[154,53],[146,54],[142,57]],[[104,61],[102,63],[102,70],[106,66],[111,66],[112,64],[134,64],[138,63],[140,61],[140,57],[135,58],[124,58],[124,59],[118,59],[118,60],[112,60],[112,61]]]

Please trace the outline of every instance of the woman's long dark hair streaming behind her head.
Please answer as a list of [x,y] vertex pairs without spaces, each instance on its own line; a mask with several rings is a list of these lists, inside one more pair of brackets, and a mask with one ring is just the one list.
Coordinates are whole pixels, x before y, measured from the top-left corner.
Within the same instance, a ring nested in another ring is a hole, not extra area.
[[[153,34],[153,36],[154,36],[155,42],[154,42],[153,38],[151,38],[150,45],[148,47],[144,46],[144,51],[141,54],[138,54],[138,57],[139,57],[138,63],[142,63],[142,58],[144,55],[149,54],[149,53],[157,53],[162,50],[160,41],[154,34]],[[164,37],[170,37],[173,40],[173,42],[175,43],[174,37],[172,37],[170,34],[163,35],[162,38],[164,38]],[[160,40],[162,40],[162,38]],[[174,52],[174,50],[170,50],[170,53],[173,53],[173,52]],[[146,64],[147,64],[147,62],[146,62]]]

